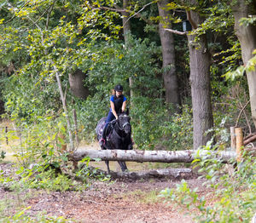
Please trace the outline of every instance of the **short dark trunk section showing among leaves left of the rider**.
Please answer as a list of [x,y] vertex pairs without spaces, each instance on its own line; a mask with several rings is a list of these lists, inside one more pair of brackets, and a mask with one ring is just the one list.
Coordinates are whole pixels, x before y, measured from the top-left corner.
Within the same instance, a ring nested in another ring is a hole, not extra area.
[[81,99],[86,99],[89,95],[89,89],[84,87],[84,78],[85,73],[80,70],[68,74],[71,92]]

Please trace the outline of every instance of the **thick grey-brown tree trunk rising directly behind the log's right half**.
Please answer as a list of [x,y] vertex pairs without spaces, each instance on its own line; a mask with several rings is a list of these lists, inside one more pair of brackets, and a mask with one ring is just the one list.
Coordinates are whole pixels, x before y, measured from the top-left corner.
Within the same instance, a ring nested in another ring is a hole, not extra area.
[[[190,11],[188,19],[194,29],[203,21],[201,16]],[[195,35],[188,35],[190,83],[193,108],[193,148],[207,144],[212,134],[206,134],[212,129],[212,103],[210,86],[211,56],[207,49],[207,36],[201,35],[195,40]]]

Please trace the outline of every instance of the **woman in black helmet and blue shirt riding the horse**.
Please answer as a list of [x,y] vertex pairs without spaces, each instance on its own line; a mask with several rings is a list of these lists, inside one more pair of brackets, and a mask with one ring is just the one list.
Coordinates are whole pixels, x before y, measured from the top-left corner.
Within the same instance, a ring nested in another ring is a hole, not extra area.
[[105,129],[107,129],[108,123],[113,121],[113,119],[118,119],[118,113],[125,111],[126,98],[123,94],[123,86],[118,84],[114,87],[113,95],[110,98],[110,110],[108,111],[108,117],[105,121],[105,127],[102,131],[102,139],[99,141],[100,146],[105,144],[106,135]]

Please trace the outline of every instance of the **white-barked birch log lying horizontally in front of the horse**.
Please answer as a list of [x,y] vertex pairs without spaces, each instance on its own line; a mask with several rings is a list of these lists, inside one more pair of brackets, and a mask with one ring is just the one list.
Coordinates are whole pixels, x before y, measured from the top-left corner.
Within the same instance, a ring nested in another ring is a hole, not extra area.
[[124,150],[84,150],[79,148],[69,159],[80,161],[84,157],[90,157],[90,160],[101,159],[102,161],[133,161],[133,162],[159,162],[159,163],[191,163],[197,157],[209,154],[212,157],[219,157],[224,163],[230,158],[236,158],[236,152],[209,152],[206,150],[188,150],[188,151],[124,151]]

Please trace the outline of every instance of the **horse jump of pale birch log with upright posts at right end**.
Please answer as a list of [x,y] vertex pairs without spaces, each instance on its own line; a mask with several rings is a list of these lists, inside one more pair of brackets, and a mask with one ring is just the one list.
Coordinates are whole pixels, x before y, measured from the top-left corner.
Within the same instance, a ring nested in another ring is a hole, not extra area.
[[195,158],[207,156],[217,157],[223,163],[229,163],[230,159],[241,162],[243,150],[243,137],[241,128],[230,128],[231,151],[209,151],[204,149],[187,151],[140,151],[140,150],[86,150],[80,147],[68,157],[75,162],[84,157],[90,157],[91,161],[101,159],[102,161],[130,161],[130,162],[152,162],[152,163],[192,163]]

